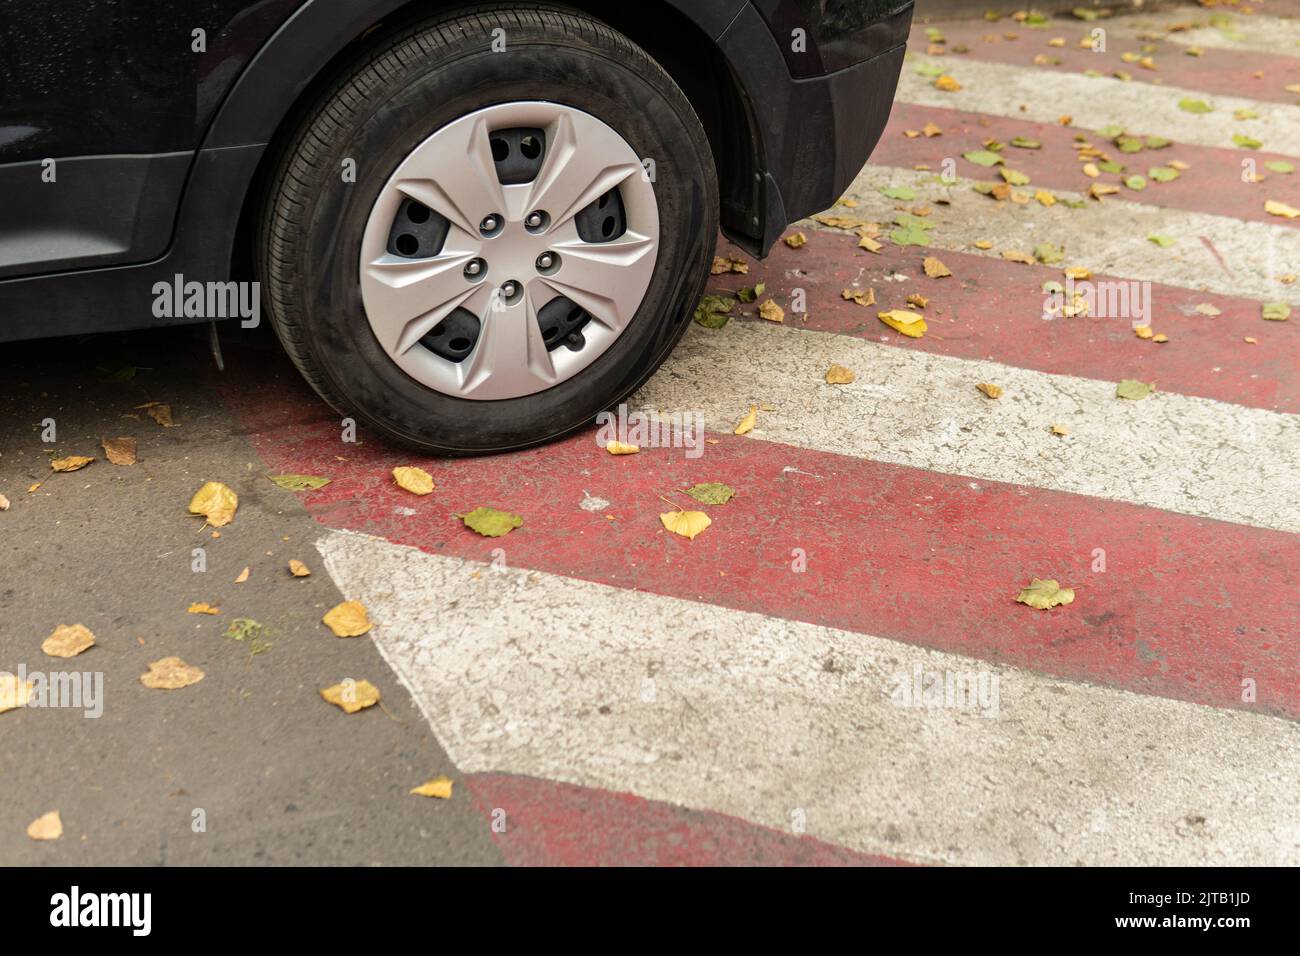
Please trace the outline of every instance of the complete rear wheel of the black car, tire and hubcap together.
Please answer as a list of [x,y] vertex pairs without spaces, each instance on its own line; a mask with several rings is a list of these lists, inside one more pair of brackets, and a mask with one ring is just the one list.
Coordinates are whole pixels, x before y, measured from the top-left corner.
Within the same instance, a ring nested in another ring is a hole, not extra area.
[[716,216],[705,131],[642,49],[576,13],[480,9],[321,96],[272,181],[260,277],[339,412],[504,451],[589,424],[667,358]]

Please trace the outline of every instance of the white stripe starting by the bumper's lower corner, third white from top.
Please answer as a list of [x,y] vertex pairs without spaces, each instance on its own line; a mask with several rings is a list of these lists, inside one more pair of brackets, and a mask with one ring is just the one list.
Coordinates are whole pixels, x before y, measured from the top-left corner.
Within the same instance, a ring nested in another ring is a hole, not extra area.
[[[1036,202],[1020,206],[980,195],[971,189],[974,179],[958,177],[953,185],[945,185],[936,172],[868,165],[846,193],[859,202],[852,212],[858,219],[889,222],[897,215],[896,207],[930,206],[935,248],[996,258],[1004,250],[1031,252],[1039,243],[1050,242],[1065,247],[1065,265],[1086,265],[1096,274],[1261,300],[1296,300],[1296,286],[1280,278],[1295,273],[1300,264],[1297,229],[1167,209],[1119,196],[1106,196],[1101,203],[1087,199],[1082,208],[1062,203],[1044,207]],[[880,194],[887,186],[909,186],[916,200],[900,204],[887,199]],[[1034,189],[1032,183],[1020,187],[1024,193]],[[1061,199],[1083,199],[1078,193],[1050,193]],[[1260,204],[1264,204],[1262,193]],[[814,221],[805,225],[818,228]],[[1169,235],[1174,245],[1161,248],[1150,242],[1150,235]],[[976,239],[996,245],[982,251],[974,246]],[[1037,303],[1026,303],[1026,308],[1037,308]]]

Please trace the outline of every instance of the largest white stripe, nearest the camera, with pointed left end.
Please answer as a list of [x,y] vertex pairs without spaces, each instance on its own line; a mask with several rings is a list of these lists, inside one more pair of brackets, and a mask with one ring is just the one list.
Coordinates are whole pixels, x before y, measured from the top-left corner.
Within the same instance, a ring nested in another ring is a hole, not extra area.
[[[916,861],[1300,864],[1282,719],[358,535],[318,548],[464,773],[802,818]],[[996,676],[997,715],[894,704],[916,669]]]

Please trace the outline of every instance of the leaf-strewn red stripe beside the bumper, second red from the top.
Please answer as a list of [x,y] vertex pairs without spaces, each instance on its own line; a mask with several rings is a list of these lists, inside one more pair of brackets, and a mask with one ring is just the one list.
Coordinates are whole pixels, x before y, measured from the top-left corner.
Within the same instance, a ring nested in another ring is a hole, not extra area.
[[[920,130],[927,122],[933,122],[942,129],[942,135],[915,138],[904,135],[904,130]],[[1115,163],[1122,163],[1127,172],[1123,176],[1101,173],[1096,179],[1084,176],[1084,164],[1078,160],[1076,143],[1074,142],[1075,134],[1079,133],[1087,135],[1088,142],[1095,147],[1108,152]],[[1014,137],[1036,139],[1043,143],[1043,148],[1020,150],[1010,146]],[[1105,182],[1119,185],[1121,191],[1115,198],[1132,203],[1188,212],[1208,212],[1251,222],[1269,222],[1300,229],[1300,220],[1270,216],[1264,211],[1264,203],[1268,199],[1292,206],[1300,204],[1300,172],[1288,176],[1270,173],[1264,164],[1269,160],[1283,159],[1283,156],[1256,150],[1219,150],[1209,146],[1175,143],[1162,150],[1122,153],[1096,133],[1074,126],[894,103],[889,125],[885,127],[871,161],[876,165],[906,169],[924,165],[937,173],[942,169],[945,159],[954,159],[958,176],[982,182],[1001,182],[1002,179],[996,170],[975,165],[962,156],[965,152],[982,150],[982,143],[989,138],[1008,144],[1002,150],[1006,165],[1030,177],[1031,185],[1023,187],[1023,191],[1032,193],[1035,189],[1046,189],[1049,191],[1087,193],[1093,182]],[[1266,140],[1268,137],[1265,135],[1264,139]],[[1173,182],[1156,182],[1149,177],[1152,166],[1165,165],[1169,160],[1175,159],[1187,163],[1191,168]],[[1260,182],[1243,181],[1243,160],[1254,160],[1254,174],[1262,177]],[[1295,160],[1291,163],[1300,169],[1300,163]],[[1122,185],[1126,176],[1135,173],[1147,178],[1147,189],[1135,191]]]

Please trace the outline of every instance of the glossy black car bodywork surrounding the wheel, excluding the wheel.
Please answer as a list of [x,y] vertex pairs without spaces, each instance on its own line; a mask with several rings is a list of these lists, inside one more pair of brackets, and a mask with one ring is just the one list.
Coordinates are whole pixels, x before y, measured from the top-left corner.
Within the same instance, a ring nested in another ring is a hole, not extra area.
[[[887,3],[884,25],[870,21],[883,0],[659,1],[725,60],[745,113],[731,121],[746,127],[749,155],[732,160],[723,230],[766,255],[792,219],[829,206],[866,161],[888,117],[910,0]],[[0,3],[29,22],[74,17],[47,13],[43,0]],[[599,16],[601,4],[584,3]],[[816,20],[820,8],[836,22]],[[0,222],[0,341],[205,319],[155,315],[153,286],[177,274],[230,277],[260,165],[300,98],[385,18],[411,13],[407,0],[109,0],[94,9],[88,25],[69,21],[68,48],[44,61],[16,18],[0,33],[0,57],[12,53],[0,66],[0,195],[34,191]],[[209,25],[202,52],[191,48],[195,23]],[[794,29],[812,55],[792,62],[784,39]],[[133,53],[133,36],[166,52]],[[789,117],[800,117],[797,131]],[[64,170],[61,195],[43,202],[51,159]]]

